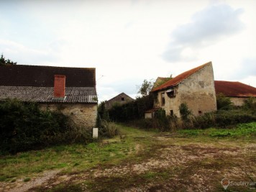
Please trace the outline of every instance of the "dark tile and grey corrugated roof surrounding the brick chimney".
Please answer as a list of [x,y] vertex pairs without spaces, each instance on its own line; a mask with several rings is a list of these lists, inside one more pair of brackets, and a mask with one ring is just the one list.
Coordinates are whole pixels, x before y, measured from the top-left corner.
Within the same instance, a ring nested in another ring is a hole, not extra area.
[[[65,99],[53,99],[54,76],[64,75]],[[0,100],[41,103],[97,103],[95,68],[0,66]]]

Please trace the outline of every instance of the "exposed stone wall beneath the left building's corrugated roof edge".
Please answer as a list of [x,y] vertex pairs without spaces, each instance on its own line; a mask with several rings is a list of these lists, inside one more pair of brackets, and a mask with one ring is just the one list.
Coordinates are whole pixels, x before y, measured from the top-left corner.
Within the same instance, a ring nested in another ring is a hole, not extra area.
[[80,127],[91,129],[96,126],[97,104],[40,104],[40,109],[61,111]]

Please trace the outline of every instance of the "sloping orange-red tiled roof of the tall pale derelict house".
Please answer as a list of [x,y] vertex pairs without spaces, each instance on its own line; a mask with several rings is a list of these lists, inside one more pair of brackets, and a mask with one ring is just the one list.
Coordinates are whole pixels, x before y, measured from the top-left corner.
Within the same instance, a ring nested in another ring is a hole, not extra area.
[[186,78],[188,78],[189,76],[191,76],[193,73],[196,73],[198,70],[200,70],[201,68],[204,68],[206,65],[211,64],[211,62],[206,63],[204,65],[198,66],[197,68],[193,68],[191,70],[187,70],[184,73],[181,73],[178,76],[175,76],[175,78],[170,79],[169,81],[163,83],[160,86],[157,86],[156,88],[153,88],[152,91],[159,91],[159,90],[163,90],[165,88],[171,87],[171,86],[176,86],[179,83],[181,83],[183,80],[185,80]]

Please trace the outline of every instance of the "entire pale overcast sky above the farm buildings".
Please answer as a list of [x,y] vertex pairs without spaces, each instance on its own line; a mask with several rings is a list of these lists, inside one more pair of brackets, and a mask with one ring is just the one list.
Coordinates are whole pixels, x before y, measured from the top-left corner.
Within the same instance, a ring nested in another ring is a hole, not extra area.
[[256,87],[255,0],[0,0],[0,53],[18,64],[96,68],[99,101],[211,61]]

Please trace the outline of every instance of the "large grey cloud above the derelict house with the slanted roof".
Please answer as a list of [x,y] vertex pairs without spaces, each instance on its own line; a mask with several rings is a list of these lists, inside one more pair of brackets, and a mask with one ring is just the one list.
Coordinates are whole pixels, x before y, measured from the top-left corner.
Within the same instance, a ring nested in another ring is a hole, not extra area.
[[169,62],[184,60],[186,58],[181,52],[187,47],[196,50],[236,34],[244,29],[244,24],[239,20],[242,12],[242,9],[234,10],[227,4],[208,6],[197,12],[190,23],[180,25],[171,33],[172,41],[163,53],[163,59]]

